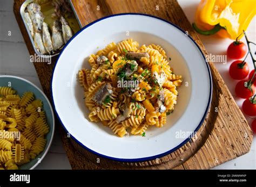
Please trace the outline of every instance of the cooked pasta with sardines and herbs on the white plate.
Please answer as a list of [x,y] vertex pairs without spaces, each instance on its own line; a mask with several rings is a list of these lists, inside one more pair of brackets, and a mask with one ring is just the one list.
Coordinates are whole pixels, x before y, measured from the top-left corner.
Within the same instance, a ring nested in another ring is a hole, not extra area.
[[182,79],[174,74],[160,45],[126,39],[91,54],[91,69],[78,72],[91,121],[120,137],[163,127],[174,110]]

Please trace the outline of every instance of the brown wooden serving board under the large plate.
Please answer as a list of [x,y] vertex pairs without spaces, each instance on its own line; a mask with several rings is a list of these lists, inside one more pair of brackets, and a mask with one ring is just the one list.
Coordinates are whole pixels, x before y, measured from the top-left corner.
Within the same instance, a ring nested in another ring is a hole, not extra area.
[[[34,54],[31,42],[19,14],[24,0],[14,1],[14,13],[21,28],[29,53]],[[83,26],[92,21],[116,13],[146,13],[166,19],[188,31],[201,50],[207,52],[183,10],[176,0],[72,0]],[[46,95],[50,96],[50,81],[56,59],[52,64],[34,63]],[[94,155],[67,136],[59,122],[56,126],[72,169],[210,169],[250,151],[252,131],[245,117],[228,91],[223,79],[212,62],[213,77],[211,108],[196,136],[176,152],[162,158],[138,163],[121,163]]]

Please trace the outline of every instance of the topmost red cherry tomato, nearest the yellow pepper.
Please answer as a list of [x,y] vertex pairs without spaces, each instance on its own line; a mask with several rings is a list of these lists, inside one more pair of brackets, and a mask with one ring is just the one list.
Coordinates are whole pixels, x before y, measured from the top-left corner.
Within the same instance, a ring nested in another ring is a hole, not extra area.
[[234,41],[227,48],[227,56],[231,59],[241,59],[247,52],[246,45],[241,41]]

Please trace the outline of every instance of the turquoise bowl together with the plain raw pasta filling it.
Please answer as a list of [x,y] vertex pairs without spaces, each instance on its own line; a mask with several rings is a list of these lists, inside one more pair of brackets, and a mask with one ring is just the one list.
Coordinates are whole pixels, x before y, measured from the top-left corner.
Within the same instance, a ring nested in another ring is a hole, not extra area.
[[22,78],[0,76],[0,169],[36,167],[49,149],[53,124],[43,92]]

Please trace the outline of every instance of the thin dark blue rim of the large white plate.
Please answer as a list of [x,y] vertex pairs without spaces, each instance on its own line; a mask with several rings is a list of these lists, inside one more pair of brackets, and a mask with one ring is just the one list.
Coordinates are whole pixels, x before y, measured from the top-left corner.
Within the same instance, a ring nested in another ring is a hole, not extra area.
[[[62,55],[63,51],[65,50],[66,46],[69,45],[69,43],[82,31],[84,31],[87,27],[90,27],[91,25],[101,21],[101,20],[104,20],[104,19],[107,19],[107,18],[111,18],[111,17],[115,17],[115,16],[124,16],[124,15],[139,15],[139,16],[147,16],[147,17],[151,17],[151,18],[155,18],[155,19],[159,19],[161,21],[164,21],[165,23],[168,23],[174,27],[176,27],[178,30],[180,30],[181,32],[183,32],[184,34],[187,35],[187,33],[182,29],[180,28],[179,26],[165,20],[165,19],[162,19],[162,18],[159,18],[159,17],[156,17],[156,16],[152,16],[152,15],[146,15],[144,13],[118,13],[116,15],[110,15],[110,16],[106,16],[106,17],[103,17],[103,18],[100,18],[100,19],[97,19],[95,21],[92,21],[90,24],[84,26],[83,28],[81,28],[75,35],[73,35],[73,37],[65,44],[65,46],[63,47],[62,51],[60,52],[59,56],[58,56],[58,60],[59,60],[59,57],[60,55]],[[201,51],[200,47],[198,46],[198,44],[196,43],[196,41],[193,40],[193,38],[188,34],[187,37],[189,37],[194,45],[197,46],[198,50],[200,51],[201,55],[203,56],[204,60],[205,60],[205,63],[206,63],[206,67],[207,67],[207,70],[208,70],[208,74],[209,74],[209,79],[210,79],[210,96],[209,96],[209,99],[208,99],[208,103],[207,103],[207,107],[206,107],[206,110],[205,110],[205,113],[204,113],[204,116],[203,118],[201,119],[199,125],[197,126],[196,130],[194,130],[194,132],[192,132],[191,134],[194,135],[197,133],[197,131],[199,130],[199,128],[201,127],[201,125],[203,124],[205,118],[206,118],[206,115],[207,115],[207,112],[209,110],[209,107],[210,107],[210,103],[211,103],[211,100],[212,100],[212,75],[211,75],[211,70],[210,70],[210,67],[209,67],[209,64],[208,64],[208,61],[206,60],[203,52]],[[52,97],[52,103],[53,103],[53,106],[54,106],[54,109],[55,109],[55,103],[54,103],[54,100],[53,100],[53,95],[52,95],[52,80],[53,80],[53,75],[54,75],[54,71],[55,71],[55,68],[57,66],[57,63],[58,63],[58,60],[56,61],[55,63],[55,67],[53,68],[52,70],[52,78],[51,78],[51,97]],[[60,121],[60,124],[62,124],[64,130],[66,132],[68,132],[68,130],[66,130],[64,124],[62,123],[62,120],[59,118],[59,115],[58,115],[58,112],[56,111],[55,109],[55,112],[56,112],[56,115]],[[68,132],[69,133],[69,132]],[[149,161],[149,160],[155,160],[155,159],[159,159],[160,157],[163,157],[163,156],[166,156],[174,151],[176,151],[177,149],[179,149],[180,147],[184,146],[188,141],[191,140],[191,138],[193,138],[193,136],[188,136],[190,138],[187,138],[186,140],[184,140],[183,142],[180,143],[180,145],[172,148],[171,150],[165,152],[165,153],[161,153],[161,154],[158,154],[158,155],[154,155],[154,156],[149,156],[149,157],[143,157],[143,158],[139,158],[139,159],[120,159],[120,158],[116,158],[116,157],[111,157],[111,156],[106,156],[106,155],[103,155],[103,154],[100,154],[100,153],[97,153],[95,152],[94,150],[86,147],[85,145],[83,145],[83,143],[81,143],[80,141],[78,141],[74,136],[72,136],[72,134],[70,134],[70,137],[75,140],[80,146],[82,146],[83,148],[85,148],[86,150],[89,150],[89,152],[93,153],[93,154],[96,154],[96,155],[99,155],[99,156],[102,156],[103,158],[105,159],[110,159],[110,160],[113,160],[113,161],[118,161],[118,162],[143,162],[143,161]]]

